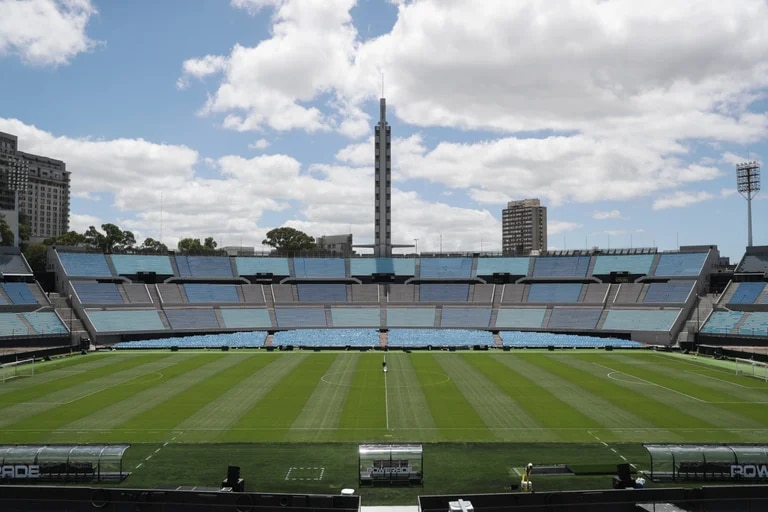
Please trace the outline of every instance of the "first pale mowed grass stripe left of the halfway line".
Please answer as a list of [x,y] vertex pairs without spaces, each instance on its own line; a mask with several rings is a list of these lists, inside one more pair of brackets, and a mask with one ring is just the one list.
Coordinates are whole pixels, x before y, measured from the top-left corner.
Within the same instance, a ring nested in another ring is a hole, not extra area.
[[338,354],[286,434],[288,441],[332,441],[352,384],[358,354]]

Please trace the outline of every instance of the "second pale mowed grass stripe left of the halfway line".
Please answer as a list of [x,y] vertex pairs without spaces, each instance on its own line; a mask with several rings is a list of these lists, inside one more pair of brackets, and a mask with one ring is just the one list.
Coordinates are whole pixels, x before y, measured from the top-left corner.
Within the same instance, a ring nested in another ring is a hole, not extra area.
[[[214,442],[225,438],[254,404],[301,364],[308,354],[288,354],[256,369],[242,380],[229,380],[229,390],[180,422],[175,430],[184,432],[184,442]],[[213,398],[213,397],[210,397]],[[261,440],[263,434],[259,434]],[[238,436],[235,436],[238,437]],[[256,440],[253,432],[236,440]]]

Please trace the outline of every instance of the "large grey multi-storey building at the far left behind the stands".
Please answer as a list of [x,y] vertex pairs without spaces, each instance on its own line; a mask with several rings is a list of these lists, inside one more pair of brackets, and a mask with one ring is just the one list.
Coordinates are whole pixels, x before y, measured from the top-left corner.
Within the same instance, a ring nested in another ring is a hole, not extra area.
[[39,242],[69,231],[70,179],[61,160],[18,150],[18,138],[0,132],[0,210],[26,217],[31,241]]

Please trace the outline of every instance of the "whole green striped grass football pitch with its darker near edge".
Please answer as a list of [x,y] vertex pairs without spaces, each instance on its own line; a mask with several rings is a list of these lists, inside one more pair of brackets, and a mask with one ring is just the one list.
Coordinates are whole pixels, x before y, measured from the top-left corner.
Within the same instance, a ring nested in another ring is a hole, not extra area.
[[363,492],[366,504],[413,503],[503,492],[527,462],[642,469],[644,442],[764,443],[768,383],[717,363],[597,350],[95,353],[0,385],[0,443],[129,443],[124,486],[217,485],[232,464],[249,490],[337,492],[357,488],[357,443],[418,442],[423,488]]

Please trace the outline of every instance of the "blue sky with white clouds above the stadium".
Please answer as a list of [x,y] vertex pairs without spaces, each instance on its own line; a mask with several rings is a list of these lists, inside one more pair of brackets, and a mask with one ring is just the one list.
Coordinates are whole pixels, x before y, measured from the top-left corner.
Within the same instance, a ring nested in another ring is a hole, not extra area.
[[[66,162],[78,232],[261,251],[291,226],[371,244],[383,95],[396,244],[500,251],[507,202],[539,198],[553,250],[716,244],[735,263],[747,245],[736,164],[768,155],[766,0],[0,0],[0,13],[0,131]],[[752,218],[768,245],[768,190]]]

